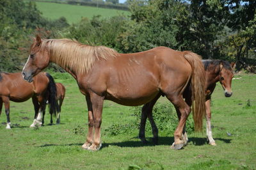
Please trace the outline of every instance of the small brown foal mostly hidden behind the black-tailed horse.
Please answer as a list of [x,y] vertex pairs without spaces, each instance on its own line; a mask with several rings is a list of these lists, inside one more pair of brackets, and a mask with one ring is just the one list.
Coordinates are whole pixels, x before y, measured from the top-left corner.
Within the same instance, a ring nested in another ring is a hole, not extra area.
[[[65,87],[63,86],[63,84],[61,84],[60,82],[56,82],[56,102],[57,102],[57,120],[56,120],[56,124],[60,124],[60,112],[61,112],[61,105],[63,103],[64,97],[65,97]],[[42,118],[42,124],[44,124],[44,116],[45,116],[45,112],[43,114],[43,118]],[[52,125],[52,114],[51,114],[51,125]]]

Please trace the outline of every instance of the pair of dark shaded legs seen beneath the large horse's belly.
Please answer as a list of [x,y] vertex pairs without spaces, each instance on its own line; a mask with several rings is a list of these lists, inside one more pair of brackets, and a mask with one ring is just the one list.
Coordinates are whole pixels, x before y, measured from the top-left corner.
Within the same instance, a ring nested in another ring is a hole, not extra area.
[[150,125],[152,127],[152,134],[153,134],[153,142],[154,144],[158,143],[158,129],[156,127],[156,123],[152,116],[152,110],[154,105],[156,104],[156,101],[161,95],[157,95],[151,102],[148,102],[147,104],[143,105],[141,109],[141,122],[140,122],[140,133],[139,138],[141,139],[142,143],[147,143],[147,140],[145,139],[145,125],[146,120],[150,121]]

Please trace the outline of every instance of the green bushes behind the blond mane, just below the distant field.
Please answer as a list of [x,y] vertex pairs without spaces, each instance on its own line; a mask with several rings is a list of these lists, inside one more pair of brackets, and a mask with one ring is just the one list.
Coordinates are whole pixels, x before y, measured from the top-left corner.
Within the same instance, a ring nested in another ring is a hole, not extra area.
[[106,45],[116,48],[116,39],[122,32],[122,26],[126,20],[121,15],[110,19],[101,19],[99,15],[94,16],[92,20],[83,18],[78,24],[70,26],[65,36],[89,45]]

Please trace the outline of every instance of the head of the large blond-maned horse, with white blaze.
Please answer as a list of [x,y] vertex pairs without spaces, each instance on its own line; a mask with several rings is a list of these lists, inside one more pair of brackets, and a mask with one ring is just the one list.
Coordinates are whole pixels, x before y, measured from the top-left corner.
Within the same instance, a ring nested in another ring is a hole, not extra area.
[[26,62],[22,70],[22,77],[26,81],[32,82],[33,77],[41,72],[48,65],[49,52],[45,47],[42,48],[42,40],[40,36],[36,35],[35,41],[30,47],[28,61]]

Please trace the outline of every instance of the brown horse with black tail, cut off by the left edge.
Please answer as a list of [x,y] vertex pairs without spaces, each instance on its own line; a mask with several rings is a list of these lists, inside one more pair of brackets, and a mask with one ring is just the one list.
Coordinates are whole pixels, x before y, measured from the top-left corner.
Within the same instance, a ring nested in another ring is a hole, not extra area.
[[45,102],[49,101],[49,112],[56,112],[56,86],[54,79],[49,73],[38,73],[33,83],[24,81],[22,74],[0,72],[0,114],[3,103],[5,107],[7,123],[6,128],[11,128],[10,100],[13,102],[25,102],[32,98],[35,109],[35,117],[30,127],[42,125],[42,112],[45,112]]

